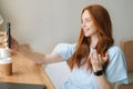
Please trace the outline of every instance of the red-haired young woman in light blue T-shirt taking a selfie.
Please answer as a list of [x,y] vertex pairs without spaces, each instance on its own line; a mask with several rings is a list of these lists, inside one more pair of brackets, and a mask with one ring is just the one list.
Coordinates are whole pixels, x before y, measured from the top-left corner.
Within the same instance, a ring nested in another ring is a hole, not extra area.
[[117,46],[113,46],[109,12],[100,4],[88,6],[81,13],[81,32],[78,43],[60,43],[50,55],[40,56],[19,48],[12,39],[11,50],[38,63],[68,61],[70,78],[61,89],[113,89],[115,82],[127,83],[126,63]]

